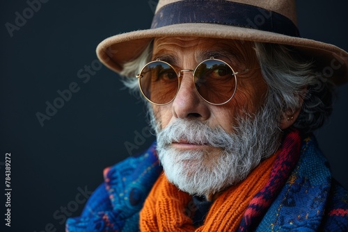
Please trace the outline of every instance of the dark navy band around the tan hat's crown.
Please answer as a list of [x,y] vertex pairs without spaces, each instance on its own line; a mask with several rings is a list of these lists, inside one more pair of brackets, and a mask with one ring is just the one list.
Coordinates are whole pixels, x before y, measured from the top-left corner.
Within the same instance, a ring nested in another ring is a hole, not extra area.
[[157,11],[151,28],[185,23],[223,24],[299,37],[296,25],[284,15],[257,6],[223,0],[169,3]]

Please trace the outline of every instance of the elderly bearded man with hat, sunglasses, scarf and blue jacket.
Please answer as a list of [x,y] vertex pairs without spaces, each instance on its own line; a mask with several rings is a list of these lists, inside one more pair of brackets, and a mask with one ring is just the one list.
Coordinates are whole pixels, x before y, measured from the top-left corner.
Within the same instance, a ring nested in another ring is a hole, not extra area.
[[311,131],[348,53],[299,37],[293,1],[159,1],[97,47],[143,95],[157,142],[105,170],[67,231],[347,231]]

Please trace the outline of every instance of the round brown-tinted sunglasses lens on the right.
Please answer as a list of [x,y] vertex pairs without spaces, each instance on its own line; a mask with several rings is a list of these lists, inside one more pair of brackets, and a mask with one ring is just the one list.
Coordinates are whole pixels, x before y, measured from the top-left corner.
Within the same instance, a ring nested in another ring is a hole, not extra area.
[[196,89],[203,99],[223,104],[232,99],[237,79],[232,68],[222,60],[205,60],[195,70]]

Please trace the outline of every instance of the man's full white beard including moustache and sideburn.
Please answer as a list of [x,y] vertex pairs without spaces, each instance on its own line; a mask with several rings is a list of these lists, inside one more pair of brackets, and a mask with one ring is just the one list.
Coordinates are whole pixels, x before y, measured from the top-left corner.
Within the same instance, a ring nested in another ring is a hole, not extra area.
[[[275,111],[267,101],[254,117],[238,117],[233,133],[220,127],[211,129],[198,120],[176,119],[157,133],[157,154],[168,181],[189,194],[209,196],[244,180],[262,158],[274,154],[280,145]],[[179,140],[208,144],[215,148],[214,156],[207,149],[173,148],[171,143]]]

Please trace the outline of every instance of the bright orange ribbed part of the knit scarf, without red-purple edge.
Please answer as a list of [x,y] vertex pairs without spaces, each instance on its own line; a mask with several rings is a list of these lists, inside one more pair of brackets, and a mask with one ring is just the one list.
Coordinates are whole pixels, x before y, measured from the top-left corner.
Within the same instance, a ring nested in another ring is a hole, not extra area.
[[161,175],[141,210],[141,231],[236,231],[251,199],[269,180],[277,155],[263,160],[244,181],[224,190],[197,229],[190,217],[196,210],[192,197]]

